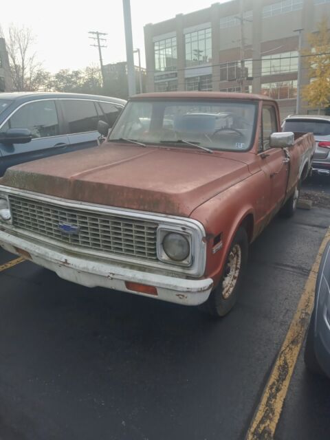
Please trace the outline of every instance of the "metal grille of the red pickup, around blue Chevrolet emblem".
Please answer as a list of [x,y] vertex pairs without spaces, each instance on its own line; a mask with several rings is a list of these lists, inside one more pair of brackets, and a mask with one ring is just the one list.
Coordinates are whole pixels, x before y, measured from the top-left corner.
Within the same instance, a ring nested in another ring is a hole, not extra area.
[[[13,225],[60,243],[122,254],[148,260],[157,259],[157,223],[129,216],[67,208],[39,200],[9,196]],[[78,234],[67,234],[60,223],[77,226]]]

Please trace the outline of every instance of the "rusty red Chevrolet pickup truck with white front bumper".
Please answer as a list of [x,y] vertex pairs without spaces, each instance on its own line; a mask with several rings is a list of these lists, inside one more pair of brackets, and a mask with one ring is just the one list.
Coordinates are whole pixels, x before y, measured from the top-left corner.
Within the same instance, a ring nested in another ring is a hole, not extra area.
[[313,135],[280,127],[265,96],[134,96],[98,148],[6,171],[0,245],[80,285],[224,316],[250,243],[294,214],[311,168]]

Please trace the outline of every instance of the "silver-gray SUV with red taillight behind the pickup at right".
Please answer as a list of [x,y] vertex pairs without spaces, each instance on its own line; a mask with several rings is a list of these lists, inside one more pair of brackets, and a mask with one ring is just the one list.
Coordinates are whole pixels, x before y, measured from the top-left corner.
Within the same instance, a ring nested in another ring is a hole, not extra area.
[[314,133],[316,151],[312,162],[314,173],[330,175],[330,116],[292,115],[285,118],[283,131]]

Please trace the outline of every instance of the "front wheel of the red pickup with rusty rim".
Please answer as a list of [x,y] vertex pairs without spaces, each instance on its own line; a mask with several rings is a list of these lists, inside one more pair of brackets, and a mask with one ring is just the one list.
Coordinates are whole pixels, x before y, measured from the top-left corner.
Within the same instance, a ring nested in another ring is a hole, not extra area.
[[[232,263],[233,259],[234,263]],[[236,272],[238,265],[237,263],[235,264],[235,261],[237,261],[237,259],[240,259],[239,272]],[[219,284],[214,290],[212,290],[206,303],[203,303],[201,306],[199,306],[202,311],[217,318],[225,316],[229,313],[232,307],[234,307],[238,298],[239,288],[247,261],[248,234],[244,228],[239,228],[226,256],[223,274],[221,275]],[[233,267],[234,270],[232,271],[230,267]],[[227,281],[225,278],[228,278]],[[228,283],[228,281],[234,281],[235,279],[236,281],[234,286],[230,287],[228,290],[228,285],[232,285],[231,283]]]

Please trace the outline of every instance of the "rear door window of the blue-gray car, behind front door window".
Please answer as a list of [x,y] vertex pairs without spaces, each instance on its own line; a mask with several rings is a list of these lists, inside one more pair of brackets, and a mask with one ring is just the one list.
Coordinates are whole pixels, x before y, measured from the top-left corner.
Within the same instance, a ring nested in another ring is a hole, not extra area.
[[93,101],[62,100],[62,105],[68,125],[67,133],[96,131],[99,118]]

